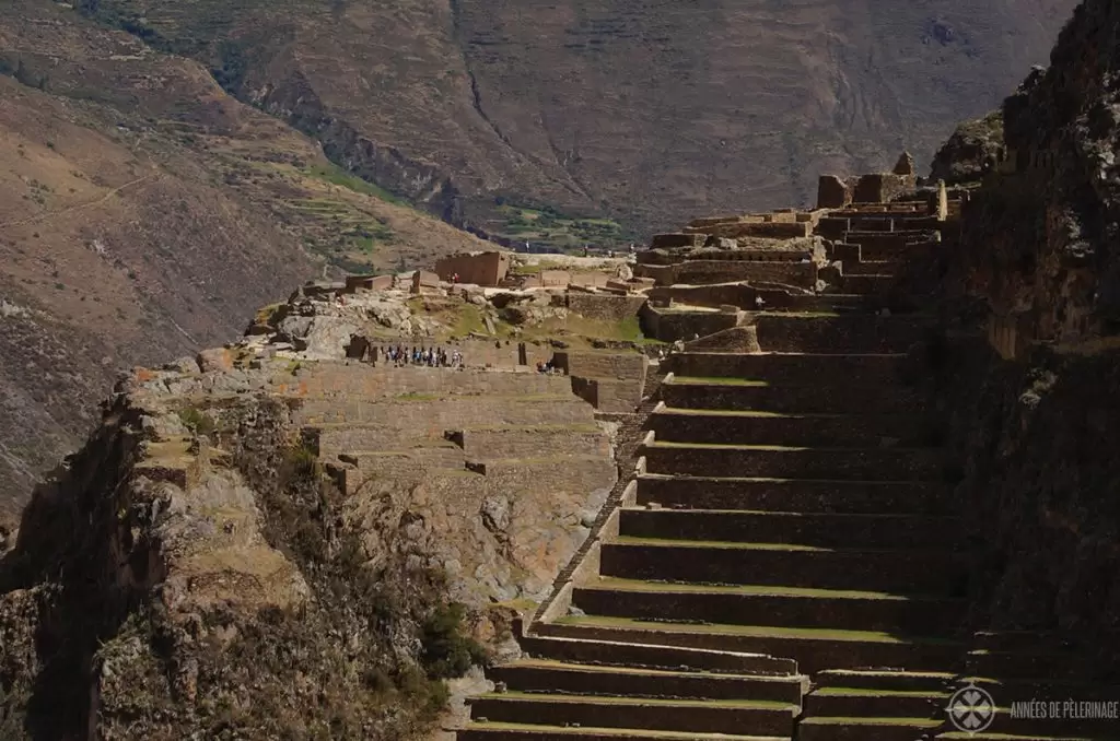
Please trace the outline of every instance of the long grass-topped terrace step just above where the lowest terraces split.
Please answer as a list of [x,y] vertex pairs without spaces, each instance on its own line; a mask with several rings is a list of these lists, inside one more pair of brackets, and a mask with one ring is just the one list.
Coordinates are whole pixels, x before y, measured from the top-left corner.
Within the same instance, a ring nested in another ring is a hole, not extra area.
[[567,617],[535,623],[544,636],[594,638],[680,647],[788,656],[805,673],[827,668],[905,667],[934,670],[954,666],[962,647],[950,640],[907,639],[894,634],[763,626],[682,625],[657,621]]

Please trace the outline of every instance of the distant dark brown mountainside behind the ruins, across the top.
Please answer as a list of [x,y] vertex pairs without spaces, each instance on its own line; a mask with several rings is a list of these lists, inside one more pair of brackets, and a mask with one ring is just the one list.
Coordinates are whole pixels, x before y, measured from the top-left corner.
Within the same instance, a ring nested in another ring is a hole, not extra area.
[[[363,177],[513,238],[629,238],[924,167],[1073,0],[85,0]],[[561,218],[541,208],[551,206]],[[588,216],[607,217],[588,221]]]

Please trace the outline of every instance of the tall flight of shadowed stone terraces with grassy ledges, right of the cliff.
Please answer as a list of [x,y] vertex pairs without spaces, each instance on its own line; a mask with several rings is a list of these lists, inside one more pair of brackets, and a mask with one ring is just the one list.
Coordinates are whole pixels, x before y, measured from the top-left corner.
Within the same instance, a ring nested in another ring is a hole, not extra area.
[[[944,191],[841,206],[812,222],[839,291],[744,311],[759,351],[669,358],[620,506],[523,627],[525,655],[489,669],[460,739],[1116,738],[1010,717],[1068,690],[1066,658],[965,629],[970,544],[917,385],[930,327],[875,310],[952,228]],[[718,266],[681,272],[672,254],[731,238],[699,232],[712,226],[732,229],[694,223],[642,264],[700,276],[673,290],[711,288]],[[747,281],[740,298],[763,296],[749,280],[768,268],[730,252],[712,262]],[[945,709],[972,681],[999,711],[968,737]]]

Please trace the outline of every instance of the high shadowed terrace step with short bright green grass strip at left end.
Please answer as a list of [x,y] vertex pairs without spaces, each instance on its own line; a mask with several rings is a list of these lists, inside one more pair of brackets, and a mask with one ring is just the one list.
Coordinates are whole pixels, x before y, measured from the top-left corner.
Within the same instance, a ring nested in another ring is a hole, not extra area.
[[661,398],[674,409],[756,411],[793,414],[914,414],[926,398],[902,386],[828,384],[786,386],[766,382],[674,376],[661,385]]

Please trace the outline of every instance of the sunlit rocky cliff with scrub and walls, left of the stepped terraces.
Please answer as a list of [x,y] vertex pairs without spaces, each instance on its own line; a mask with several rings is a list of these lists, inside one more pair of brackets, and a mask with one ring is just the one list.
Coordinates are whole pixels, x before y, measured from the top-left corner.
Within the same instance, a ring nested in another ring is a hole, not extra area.
[[119,382],[0,533],[2,738],[413,738],[515,650],[608,431],[560,376],[347,363],[373,302]]

